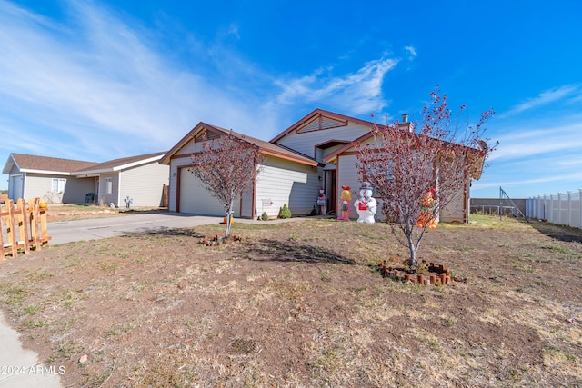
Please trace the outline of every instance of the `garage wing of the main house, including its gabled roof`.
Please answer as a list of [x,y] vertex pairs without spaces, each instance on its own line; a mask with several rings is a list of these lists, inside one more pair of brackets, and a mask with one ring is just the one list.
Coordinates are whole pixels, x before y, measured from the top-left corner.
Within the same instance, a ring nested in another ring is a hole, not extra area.
[[266,212],[276,217],[287,204],[292,214],[308,214],[321,187],[319,163],[315,159],[263,140],[237,134],[206,123],[197,124],[160,161],[170,165],[168,209],[188,214],[225,215],[215,197],[190,173],[191,155],[202,149],[202,142],[233,134],[258,147],[263,156],[262,171],[249,193],[235,205],[235,216],[254,218]]

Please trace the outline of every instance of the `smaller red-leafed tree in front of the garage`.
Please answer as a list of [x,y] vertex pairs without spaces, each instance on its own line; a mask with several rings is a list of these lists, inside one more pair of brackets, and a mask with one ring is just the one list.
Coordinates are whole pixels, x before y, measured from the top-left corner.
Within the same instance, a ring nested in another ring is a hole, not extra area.
[[230,235],[235,201],[253,186],[260,170],[259,148],[240,134],[222,134],[202,143],[202,150],[191,155],[189,171],[225,207],[226,231]]

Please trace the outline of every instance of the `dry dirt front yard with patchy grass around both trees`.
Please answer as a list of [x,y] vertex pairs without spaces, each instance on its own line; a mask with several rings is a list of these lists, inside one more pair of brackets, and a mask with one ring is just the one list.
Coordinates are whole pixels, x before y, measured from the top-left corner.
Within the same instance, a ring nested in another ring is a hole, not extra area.
[[198,244],[223,228],[6,258],[0,306],[65,386],[582,385],[580,230],[439,224],[419,256],[457,281],[425,287],[378,273],[406,257],[386,224],[234,224],[242,243]]

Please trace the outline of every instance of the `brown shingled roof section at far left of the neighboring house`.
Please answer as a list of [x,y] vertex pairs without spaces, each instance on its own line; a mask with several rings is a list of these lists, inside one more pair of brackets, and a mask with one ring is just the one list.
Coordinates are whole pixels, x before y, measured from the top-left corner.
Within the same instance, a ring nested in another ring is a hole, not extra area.
[[82,160],[12,153],[8,156],[2,173],[10,174],[13,166],[16,165],[22,173],[69,175],[72,171],[88,168],[95,164],[95,162]]

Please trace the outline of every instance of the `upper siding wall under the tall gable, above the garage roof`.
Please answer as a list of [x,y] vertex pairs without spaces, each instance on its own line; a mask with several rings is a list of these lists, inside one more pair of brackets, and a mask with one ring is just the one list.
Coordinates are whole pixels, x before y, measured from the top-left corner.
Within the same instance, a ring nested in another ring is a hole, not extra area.
[[[311,157],[317,157],[315,154],[316,144],[325,143],[331,139],[336,140],[356,140],[358,137],[370,132],[370,128],[366,125],[348,123],[346,126],[322,129],[312,132],[296,133],[295,131],[286,134],[284,137],[276,141],[276,144],[284,145],[288,148],[296,150],[301,154],[306,154]],[[321,159],[317,159],[321,161]]]

